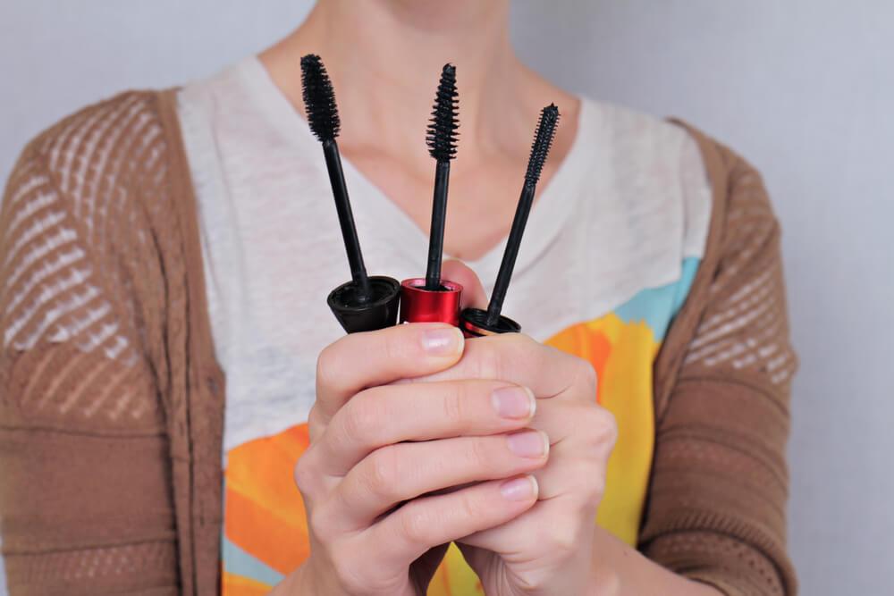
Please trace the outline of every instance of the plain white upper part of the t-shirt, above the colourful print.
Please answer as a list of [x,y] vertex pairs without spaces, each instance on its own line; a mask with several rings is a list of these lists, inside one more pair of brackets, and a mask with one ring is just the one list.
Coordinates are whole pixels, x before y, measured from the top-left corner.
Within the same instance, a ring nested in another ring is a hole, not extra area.
[[[325,298],[350,272],[322,148],[257,58],[183,88],[179,113],[226,374],[226,451],[307,420],[316,357],[343,335]],[[368,272],[424,274],[426,234],[342,163]],[[531,212],[503,312],[544,340],[678,280],[684,260],[702,256],[710,208],[684,130],[583,100],[577,138]],[[468,263],[488,294],[503,246]]]

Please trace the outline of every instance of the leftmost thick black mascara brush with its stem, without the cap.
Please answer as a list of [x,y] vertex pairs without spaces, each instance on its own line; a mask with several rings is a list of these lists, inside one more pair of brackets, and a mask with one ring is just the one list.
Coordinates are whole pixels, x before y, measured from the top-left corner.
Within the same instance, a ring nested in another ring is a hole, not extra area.
[[373,291],[367,277],[367,267],[363,264],[360,240],[354,215],[350,209],[348,186],[344,181],[342,157],[339,155],[335,138],[341,130],[338,107],[335,105],[335,90],[329,74],[318,55],[308,54],[301,58],[301,86],[303,88],[304,109],[308,114],[308,125],[317,139],[323,143],[323,155],[329,183],[332,185],[335,210],[338,212],[342,228],[344,249],[350,264],[350,277],[355,285],[355,298],[359,304],[366,304],[373,298]]

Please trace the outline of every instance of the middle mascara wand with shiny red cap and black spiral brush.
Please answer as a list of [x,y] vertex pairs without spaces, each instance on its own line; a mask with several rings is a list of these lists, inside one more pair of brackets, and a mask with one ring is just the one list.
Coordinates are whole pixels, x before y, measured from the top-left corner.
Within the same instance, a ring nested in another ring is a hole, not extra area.
[[441,279],[441,259],[444,247],[444,223],[447,219],[447,189],[450,162],[456,157],[458,121],[458,93],[456,67],[444,64],[441,80],[434,97],[432,118],[428,124],[426,144],[435,160],[432,226],[428,240],[426,277],[404,280],[401,283],[401,322],[460,323],[460,293],[462,286]]

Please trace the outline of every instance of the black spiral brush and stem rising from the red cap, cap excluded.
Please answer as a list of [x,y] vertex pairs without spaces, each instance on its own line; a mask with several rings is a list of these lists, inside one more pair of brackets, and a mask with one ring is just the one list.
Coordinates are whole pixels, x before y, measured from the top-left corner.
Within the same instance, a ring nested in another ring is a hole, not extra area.
[[456,67],[444,64],[441,80],[434,97],[432,118],[428,125],[426,144],[428,153],[436,161],[434,169],[434,199],[432,226],[428,240],[426,290],[441,288],[441,259],[443,258],[444,223],[447,220],[447,189],[450,180],[450,160],[456,156],[459,94],[456,90]]

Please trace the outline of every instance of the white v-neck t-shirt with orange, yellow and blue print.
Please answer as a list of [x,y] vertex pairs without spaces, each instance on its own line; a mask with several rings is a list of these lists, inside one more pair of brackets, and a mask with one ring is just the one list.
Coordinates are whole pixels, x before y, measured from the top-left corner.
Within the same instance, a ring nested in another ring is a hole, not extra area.
[[[291,478],[307,445],[316,357],[343,334],[325,297],[350,273],[320,144],[256,57],[183,88],[178,113],[226,375],[224,586],[270,586],[309,548],[299,494],[283,488],[283,474]],[[423,274],[426,234],[350,160],[342,164],[369,273]],[[583,98],[576,139],[530,214],[503,307],[536,340],[594,365],[595,399],[619,422],[622,454],[610,462],[599,523],[628,542],[652,461],[652,365],[704,254],[710,211],[702,157],[685,130]],[[503,247],[468,263],[488,294]],[[298,505],[271,497],[288,490]],[[282,536],[273,549],[265,525],[298,528],[291,549]],[[476,593],[463,591],[474,582],[456,555],[439,571],[439,585],[454,587],[437,593]]]

